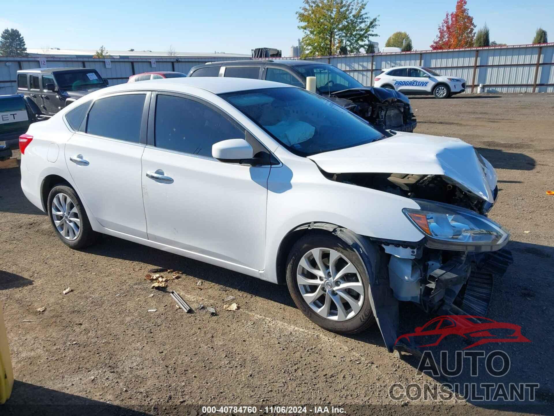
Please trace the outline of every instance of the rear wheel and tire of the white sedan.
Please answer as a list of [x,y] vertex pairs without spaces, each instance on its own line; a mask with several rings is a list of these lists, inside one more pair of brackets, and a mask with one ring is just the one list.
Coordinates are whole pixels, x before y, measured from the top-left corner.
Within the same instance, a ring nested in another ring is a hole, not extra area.
[[79,250],[98,241],[100,234],[90,226],[89,217],[72,187],[56,185],[50,190],[47,213],[55,234],[66,246]]

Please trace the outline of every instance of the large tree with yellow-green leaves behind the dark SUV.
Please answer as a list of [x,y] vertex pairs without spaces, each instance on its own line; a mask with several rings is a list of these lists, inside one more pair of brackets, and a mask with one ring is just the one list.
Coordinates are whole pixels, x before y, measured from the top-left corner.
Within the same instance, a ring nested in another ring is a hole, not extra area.
[[296,12],[304,32],[302,57],[335,55],[341,47],[348,53],[367,50],[369,38],[377,36],[378,17],[370,18],[366,5],[361,0],[304,0]]

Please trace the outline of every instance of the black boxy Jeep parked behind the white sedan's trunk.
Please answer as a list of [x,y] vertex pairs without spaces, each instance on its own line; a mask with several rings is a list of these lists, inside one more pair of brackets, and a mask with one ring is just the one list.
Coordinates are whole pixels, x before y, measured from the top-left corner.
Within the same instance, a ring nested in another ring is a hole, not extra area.
[[52,116],[86,94],[107,87],[91,68],[36,68],[17,72],[17,92],[38,114]]

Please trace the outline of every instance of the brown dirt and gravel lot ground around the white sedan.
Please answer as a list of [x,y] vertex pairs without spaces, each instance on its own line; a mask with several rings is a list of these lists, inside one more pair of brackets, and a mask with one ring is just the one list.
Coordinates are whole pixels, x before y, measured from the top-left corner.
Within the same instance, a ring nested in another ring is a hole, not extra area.
[[[495,281],[488,316],[520,325],[531,340],[482,347],[509,354],[501,381],[483,368],[472,378],[464,367],[451,382],[540,383],[535,403],[503,410],[552,414],[554,196],[545,191],[554,189],[554,94],[412,104],[417,133],[464,139],[496,167],[501,191],[491,217],[510,230],[515,262]],[[464,400],[395,402],[393,383],[440,380],[417,375],[417,358],[387,353],[377,327],[355,337],[316,327],[285,286],[112,237],[70,250],[25,199],[19,177],[18,168],[0,170],[0,303],[17,380],[2,414],[197,414],[206,404],[343,405],[347,414],[498,411],[488,406],[497,403]],[[169,289],[218,316],[176,310],[145,280],[152,267],[182,271]],[[67,287],[73,292],[62,295]],[[239,311],[223,310],[229,296]],[[401,319],[403,331],[413,332],[429,316],[403,306]],[[456,342],[442,349],[454,351]]]

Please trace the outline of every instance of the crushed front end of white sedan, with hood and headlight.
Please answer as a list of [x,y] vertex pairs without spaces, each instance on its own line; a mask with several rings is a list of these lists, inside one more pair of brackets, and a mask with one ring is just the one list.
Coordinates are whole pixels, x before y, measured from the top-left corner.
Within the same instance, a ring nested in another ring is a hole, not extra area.
[[329,180],[406,197],[419,206],[402,211],[421,240],[367,237],[382,247],[388,267],[372,282],[371,294],[389,352],[415,351],[396,344],[398,302],[416,303],[428,313],[482,317],[494,278],[512,263],[504,249],[509,232],[486,216],[498,192],[490,163],[461,140],[405,136],[310,156]]

